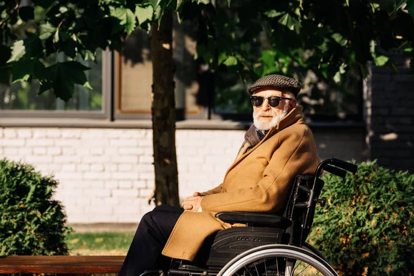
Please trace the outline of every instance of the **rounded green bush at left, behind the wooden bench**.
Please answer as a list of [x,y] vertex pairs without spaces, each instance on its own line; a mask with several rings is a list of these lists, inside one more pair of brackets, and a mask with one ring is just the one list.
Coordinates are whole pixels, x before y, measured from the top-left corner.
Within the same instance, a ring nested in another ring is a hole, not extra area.
[[0,160],[0,255],[65,255],[66,215],[57,181],[30,165]]

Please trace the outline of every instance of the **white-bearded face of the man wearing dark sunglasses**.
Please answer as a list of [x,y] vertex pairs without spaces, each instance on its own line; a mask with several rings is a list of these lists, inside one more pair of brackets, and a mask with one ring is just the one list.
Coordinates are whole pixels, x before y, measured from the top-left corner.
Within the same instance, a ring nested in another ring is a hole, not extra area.
[[[292,98],[286,93],[279,90],[259,90],[253,96],[259,97],[286,97]],[[268,99],[264,99],[262,106],[253,106],[253,119],[256,128],[259,130],[269,130],[277,126],[277,123],[285,117],[293,107],[296,106],[296,100],[281,99],[279,106],[272,107]]]

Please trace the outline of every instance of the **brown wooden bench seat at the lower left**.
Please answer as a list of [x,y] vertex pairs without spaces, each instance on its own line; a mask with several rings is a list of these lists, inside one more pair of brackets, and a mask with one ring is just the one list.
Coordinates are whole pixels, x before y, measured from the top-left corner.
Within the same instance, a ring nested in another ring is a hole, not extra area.
[[119,273],[125,256],[0,256],[0,274]]

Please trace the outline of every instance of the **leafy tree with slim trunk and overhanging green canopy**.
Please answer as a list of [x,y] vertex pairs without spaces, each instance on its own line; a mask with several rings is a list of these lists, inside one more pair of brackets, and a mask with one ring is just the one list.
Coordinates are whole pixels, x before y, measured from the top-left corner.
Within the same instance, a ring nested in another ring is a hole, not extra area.
[[[75,57],[94,59],[98,48],[121,50],[137,26],[152,32],[156,204],[178,204],[172,10],[197,26],[197,58],[219,72],[219,86],[235,84],[234,76],[241,76],[244,90],[263,75],[293,75],[312,88],[308,97],[317,104],[308,108],[314,110],[329,102],[333,91],[355,97],[348,83],[366,77],[370,61],[395,70],[386,51],[414,57],[413,0],[264,0],[260,5],[237,0],[231,8],[230,0],[215,5],[210,0],[1,2],[0,81],[38,79],[39,93],[52,88],[64,100],[75,84],[90,86],[83,73],[88,68]],[[66,61],[46,67],[45,61],[59,52]],[[231,76],[224,79],[221,73]],[[229,95],[241,95],[235,91]],[[242,106],[240,97],[234,101]]]

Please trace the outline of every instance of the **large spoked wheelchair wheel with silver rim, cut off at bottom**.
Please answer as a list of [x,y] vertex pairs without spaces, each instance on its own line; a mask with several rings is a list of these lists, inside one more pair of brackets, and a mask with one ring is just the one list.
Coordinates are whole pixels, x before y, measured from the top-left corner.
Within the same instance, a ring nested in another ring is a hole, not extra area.
[[337,276],[322,257],[283,244],[259,246],[232,259],[217,276]]

